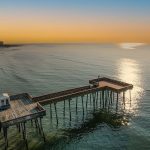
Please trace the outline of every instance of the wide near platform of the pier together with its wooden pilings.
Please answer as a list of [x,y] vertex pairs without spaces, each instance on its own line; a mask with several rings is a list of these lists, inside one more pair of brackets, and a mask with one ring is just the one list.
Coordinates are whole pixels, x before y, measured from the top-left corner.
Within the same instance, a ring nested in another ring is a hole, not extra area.
[[37,102],[33,103],[32,98],[27,94],[10,96],[10,108],[0,111],[0,131],[3,130],[5,139],[5,149],[8,147],[7,133],[10,126],[16,125],[19,132],[26,142],[26,122],[31,120],[39,125],[41,135],[44,136],[41,119],[46,115],[46,111]]

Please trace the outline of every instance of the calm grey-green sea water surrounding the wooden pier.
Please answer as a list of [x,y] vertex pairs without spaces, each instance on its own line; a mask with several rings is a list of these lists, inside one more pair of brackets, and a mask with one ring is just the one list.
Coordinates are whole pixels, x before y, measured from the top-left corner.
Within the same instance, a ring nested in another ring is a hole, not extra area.
[[[57,105],[59,124],[50,120],[49,106],[43,119],[47,143],[28,123],[30,149],[126,150],[150,149],[150,46],[123,49],[118,45],[28,45],[0,49],[0,93],[28,92],[33,96],[88,85],[97,75],[132,83],[132,104],[127,106],[126,123],[118,128],[89,113],[78,116],[72,101],[72,122],[63,119],[63,103]],[[127,94],[127,98],[129,95]],[[53,108],[54,111],[54,108]],[[68,108],[66,108],[68,113]],[[93,121],[94,119],[94,121]],[[92,126],[90,126],[92,122]],[[84,124],[85,123],[85,124]],[[88,126],[88,127],[86,127]],[[9,149],[24,149],[16,129],[9,131]],[[72,130],[71,130],[72,129]],[[86,130],[85,130],[86,129]],[[0,134],[0,150],[3,139]]]

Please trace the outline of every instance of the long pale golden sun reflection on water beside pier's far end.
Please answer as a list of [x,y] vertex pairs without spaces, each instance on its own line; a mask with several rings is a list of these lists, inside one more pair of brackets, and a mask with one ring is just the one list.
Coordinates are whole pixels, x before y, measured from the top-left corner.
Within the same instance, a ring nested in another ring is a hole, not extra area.
[[141,87],[141,69],[136,60],[133,59],[120,59],[118,64],[118,78],[124,82],[133,84],[134,88],[131,91],[131,107],[130,107],[130,94],[126,92],[126,108],[135,111],[138,107],[138,99],[143,92]]

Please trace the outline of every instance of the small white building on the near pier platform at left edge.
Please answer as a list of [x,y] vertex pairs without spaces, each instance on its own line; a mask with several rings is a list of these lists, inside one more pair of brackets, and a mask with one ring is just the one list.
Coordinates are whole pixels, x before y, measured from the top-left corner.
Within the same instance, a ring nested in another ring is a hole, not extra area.
[[10,106],[10,97],[7,93],[0,96],[0,109],[6,109]]

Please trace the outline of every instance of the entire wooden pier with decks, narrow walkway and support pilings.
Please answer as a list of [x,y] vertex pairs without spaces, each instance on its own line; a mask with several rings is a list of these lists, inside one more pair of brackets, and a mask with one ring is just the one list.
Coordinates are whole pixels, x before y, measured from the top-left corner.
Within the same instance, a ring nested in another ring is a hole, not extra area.
[[[56,123],[58,124],[57,103],[64,102],[64,115],[65,115],[65,101],[69,103],[69,117],[71,120],[71,107],[70,102],[73,98],[76,99],[74,108],[78,109],[78,98],[80,97],[83,115],[86,108],[84,108],[84,97],[86,96],[86,107],[89,101],[93,101],[93,111],[95,111],[98,103],[102,108],[106,108],[114,101],[116,101],[116,112],[118,110],[119,95],[122,95],[122,103],[125,106],[126,92],[129,91],[131,99],[132,84],[117,81],[114,79],[102,77],[89,80],[89,85],[78,88],[73,88],[61,92],[51,93],[47,95],[31,97],[27,93],[10,96],[10,108],[0,111],[0,131],[3,131],[5,140],[5,149],[8,148],[8,128],[16,125],[19,132],[22,133],[23,139],[27,145],[26,138],[26,122],[31,121],[35,123],[41,136],[45,141],[45,135],[42,127],[42,118],[46,115],[46,110],[42,107],[44,105],[54,104]],[[52,117],[52,114],[50,114]],[[28,146],[27,146],[28,148]]]

